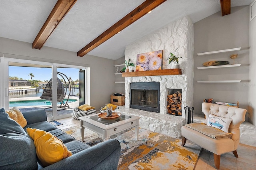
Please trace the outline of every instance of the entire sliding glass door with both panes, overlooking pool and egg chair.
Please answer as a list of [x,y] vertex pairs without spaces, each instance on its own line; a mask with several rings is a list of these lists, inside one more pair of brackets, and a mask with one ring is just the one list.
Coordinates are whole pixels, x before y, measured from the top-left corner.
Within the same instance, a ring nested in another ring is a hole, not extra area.
[[48,120],[70,117],[79,106],[81,70],[86,67],[1,57],[1,106],[44,109]]

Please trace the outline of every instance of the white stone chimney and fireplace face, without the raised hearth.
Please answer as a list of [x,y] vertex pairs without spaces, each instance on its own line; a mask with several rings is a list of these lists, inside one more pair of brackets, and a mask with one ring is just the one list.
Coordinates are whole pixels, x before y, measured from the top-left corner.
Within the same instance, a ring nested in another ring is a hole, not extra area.
[[[137,54],[163,50],[162,69],[170,69],[172,67],[172,64],[169,65],[166,59],[169,57],[170,52],[174,52],[178,48],[176,55],[182,56],[182,59],[179,60],[182,75],[125,77],[125,108],[130,108],[130,84],[137,82],[160,83],[160,109],[159,113],[155,114],[166,115],[168,113],[166,98],[169,95],[169,89],[181,89],[182,113],[185,113],[184,107],[193,106],[193,43],[193,23],[188,16],[185,16],[126,46],[125,59],[131,59],[133,63],[136,63]],[[185,117],[185,114],[182,114],[182,117]]]

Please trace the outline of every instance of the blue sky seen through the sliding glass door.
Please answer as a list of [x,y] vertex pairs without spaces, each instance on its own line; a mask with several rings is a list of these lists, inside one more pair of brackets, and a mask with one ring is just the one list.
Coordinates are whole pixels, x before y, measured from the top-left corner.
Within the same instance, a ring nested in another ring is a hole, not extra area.
[[[71,77],[73,81],[78,79],[79,69],[58,68],[57,71],[64,73],[68,78]],[[49,81],[52,78],[51,68],[9,66],[9,77],[18,77],[23,80],[30,80],[30,73],[33,73],[35,76],[32,77],[32,80]],[[63,79],[60,75],[58,75],[58,78]],[[66,79],[66,77],[64,78]]]

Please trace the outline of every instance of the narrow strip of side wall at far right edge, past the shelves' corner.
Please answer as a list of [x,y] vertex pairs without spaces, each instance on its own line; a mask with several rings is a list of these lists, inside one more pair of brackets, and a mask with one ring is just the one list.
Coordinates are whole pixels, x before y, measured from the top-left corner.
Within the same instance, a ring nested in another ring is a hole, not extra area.
[[[253,3],[253,2],[252,2]],[[248,121],[256,125],[256,17],[249,22],[249,108]]]

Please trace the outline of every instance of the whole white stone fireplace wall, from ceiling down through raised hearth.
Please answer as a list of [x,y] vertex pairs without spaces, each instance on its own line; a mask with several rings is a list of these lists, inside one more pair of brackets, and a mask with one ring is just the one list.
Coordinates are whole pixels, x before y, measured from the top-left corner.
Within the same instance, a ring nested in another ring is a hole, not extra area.
[[[177,48],[176,55],[180,59],[181,75],[159,75],[125,78],[125,107],[120,107],[118,112],[140,116],[140,127],[166,134],[174,138],[181,137],[181,127],[185,125],[184,107],[193,106],[193,69],[194,69],[194,31],[193,23],[188,16],[184,16],[172,22],[156,32],[153,32],[140,40],[127,45],[125,60],[131,59],[136,63],[136,56],[140,53],[163,50],[163,69],[170,69],[166,59],[170,52]],[[160,113],[130,109],[130,83],[132,82],[160,82]],[[182,116],[167,114],[168,89],[182,89]]]

